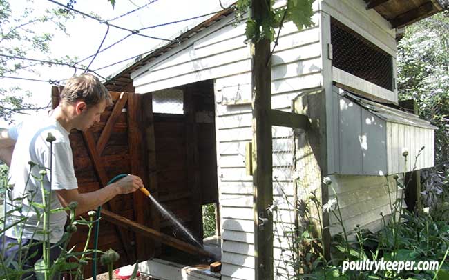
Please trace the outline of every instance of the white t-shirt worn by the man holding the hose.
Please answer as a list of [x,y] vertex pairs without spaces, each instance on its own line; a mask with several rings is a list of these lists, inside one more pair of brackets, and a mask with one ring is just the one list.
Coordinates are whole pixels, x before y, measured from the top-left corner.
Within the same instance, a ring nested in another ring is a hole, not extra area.
[[[50,143],[46,141],[48,133],[51,133],[56,138],[56,141],[52,143],[52,157],[50,157]],[[20,206],[23,201],[23,207],[21,208],[21,213],[15,211],[7,215],[6,226],[19,221],[20,217],[29,217],[23,225],[22,238],[44,239],[44,235],[41,234],[44,228],[44,216],[41,216],[40,222],[37,219],[37,212],[42,212],[43,210],[31,206],[32,202],[42,203],[41,182],[38,179],[41,178],[39,171],[44,170],[43,167],[47,168],[47,174],[42,181],[46,190],[50,190],[50,179],[51,190],[71,190],[78,187],[73,168],[73,154],[72,148],[70,148],[69,134],[70,132],[62,127],[54,117],[48,117],[47,114],[32,117],[9,130],[9,136],[12,139],[16,139],[16,144],[12,154],[8,181],[8,184],[13,186],[11,192],[12,201],[6,198],[6,210],[12,210],[10,203]],[[52,159],[51,170],[49,169],[50,158]],[[30,176],[28,176],[30,173],[29,161],[38,165],[31,168]],[[28,183],[27,180],[29,180]],[[51,209],[60,208],[61,203],[59,203],[55,192],[51,192],[51,194]],[[25,199],[20,199],[24,196],[26,197]],[[61,239],[62,234],[64,234],[66,219],[67,214],[64,211],[50,214],[51,243],[56,243]],[[17,226],[8,229],[6,236],[15,239],[19,238],[20,228],[22,227]]]

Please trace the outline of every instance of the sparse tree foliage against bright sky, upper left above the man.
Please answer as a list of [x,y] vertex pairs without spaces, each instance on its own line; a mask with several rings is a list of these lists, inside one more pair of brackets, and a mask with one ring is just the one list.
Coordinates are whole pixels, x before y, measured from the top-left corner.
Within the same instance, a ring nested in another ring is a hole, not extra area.
[[[44,63],[26,61],[33,57],[45,61],[74,63],[70,57],[51,57],[51,43],[57,32],[66,34],[65,23],[73,15],[66,9],[35,11],[36,4],[32,0],[25,1],[0,0],[0,77],[18,76],[24,72],[39,74],[37,67]],[[22,10],[14,10],[24,6]],[[18,57],[18,58],[17,58]],[[0,86],[0,117],[11,120],[12,113],[23,108],[33,108],[26,99],[30,92],[20,87],[4,88]]]

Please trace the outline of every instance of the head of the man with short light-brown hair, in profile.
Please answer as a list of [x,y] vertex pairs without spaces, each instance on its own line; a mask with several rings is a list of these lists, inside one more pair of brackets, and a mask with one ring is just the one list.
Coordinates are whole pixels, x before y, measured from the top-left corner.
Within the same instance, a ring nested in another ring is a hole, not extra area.
[[92,74],[82,74],[69,79],[61,92],[61,106],[68,108],[73,127],[85,131],[111,106],[111,94]]

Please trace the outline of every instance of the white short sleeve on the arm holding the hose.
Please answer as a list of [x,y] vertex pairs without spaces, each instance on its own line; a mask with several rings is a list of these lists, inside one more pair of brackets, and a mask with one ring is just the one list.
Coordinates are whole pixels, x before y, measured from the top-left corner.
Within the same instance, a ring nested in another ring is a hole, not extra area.
[[[48,157],[47,157],[48,159]],[[46,163],[50,166],[50,163]],[[72,149],[69,143],[53,143],[52,170],[48,174],[52,175],[52,190],[73,190],[78,188],[75,169],[73,168]]]

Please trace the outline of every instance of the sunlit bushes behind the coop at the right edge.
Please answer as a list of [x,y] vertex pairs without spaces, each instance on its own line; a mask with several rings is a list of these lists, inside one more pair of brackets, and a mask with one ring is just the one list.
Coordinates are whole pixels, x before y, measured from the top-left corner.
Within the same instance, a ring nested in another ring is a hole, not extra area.
[[449,221],[449,11],[408,26],[398,45],[399,99],[417,101],[435,131],[435,168],[421,172],[423,205]]

